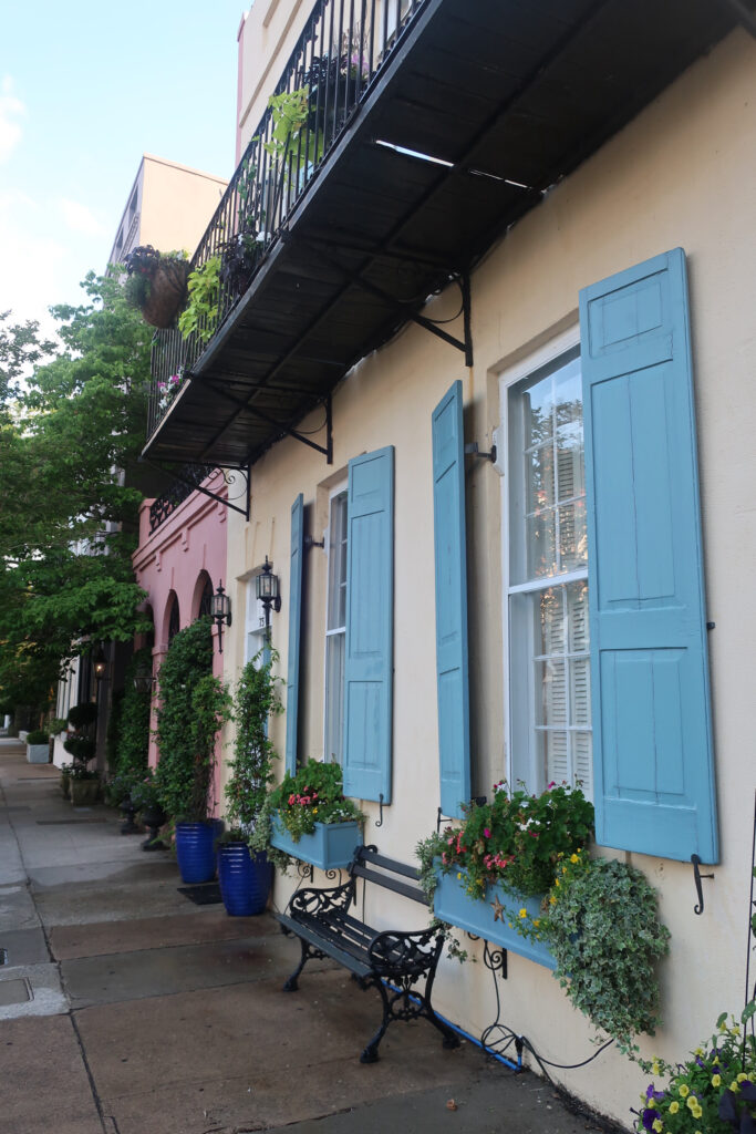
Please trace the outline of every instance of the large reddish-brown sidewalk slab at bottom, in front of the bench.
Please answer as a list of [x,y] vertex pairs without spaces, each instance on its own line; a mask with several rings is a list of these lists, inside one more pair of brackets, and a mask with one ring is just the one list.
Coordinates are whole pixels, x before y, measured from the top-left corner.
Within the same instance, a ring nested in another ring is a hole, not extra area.
[[78,1012],[105,1114],[120,1134],[262,1129],[387,1095],[459,1089],[483,1068],[472,1046],[444,1051],[425,1021],[392,1024],[381,1061],[364,1066],[379,996],[341,970],[313,971],[306,984],[287,993],[278,980],[260,981]]

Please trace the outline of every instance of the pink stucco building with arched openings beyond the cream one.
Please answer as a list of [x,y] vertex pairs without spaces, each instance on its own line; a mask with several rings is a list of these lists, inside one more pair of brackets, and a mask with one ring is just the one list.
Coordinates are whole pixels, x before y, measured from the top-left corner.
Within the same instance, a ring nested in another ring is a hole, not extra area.
[[[227,484],[220,469],[202,482],[202,491],[186,493],[180,484],[156,500],[144,500],[139,509],[139,544],[133,562],[136,581],[147,592],[146,607],[152,615],[154,636],[152,672],[156,677],[171,637],[202,613],[210,612],[210,599],[219,583],[226,582]],[[146,644],[145,640],[137,645]],[[213,674],[223,675],[223,658],[219,651],[218,627],[213,626]],[[152,729],[155,727],[153,694]],[[220,745],[220,741],[219,741]],[[155,767],[159,753],[151,734],[150,765]],[[220,747],[215,753],[214,812],[220,801]]]

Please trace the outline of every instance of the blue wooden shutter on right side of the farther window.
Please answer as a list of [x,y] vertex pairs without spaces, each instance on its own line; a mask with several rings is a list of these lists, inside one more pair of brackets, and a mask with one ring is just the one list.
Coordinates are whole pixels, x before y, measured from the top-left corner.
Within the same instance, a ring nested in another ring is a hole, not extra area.
[[393,447],[349,462],[343,790],[391,802]]

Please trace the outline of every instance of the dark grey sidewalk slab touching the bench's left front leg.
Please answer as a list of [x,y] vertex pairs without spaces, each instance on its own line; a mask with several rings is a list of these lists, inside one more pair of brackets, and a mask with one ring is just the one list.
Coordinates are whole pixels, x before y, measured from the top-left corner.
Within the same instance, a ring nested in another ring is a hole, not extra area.
[[282,984],[298,959],[294,941],[247,937],[63,960],[60,971],[71,1007],[83,1008],[270,978]]

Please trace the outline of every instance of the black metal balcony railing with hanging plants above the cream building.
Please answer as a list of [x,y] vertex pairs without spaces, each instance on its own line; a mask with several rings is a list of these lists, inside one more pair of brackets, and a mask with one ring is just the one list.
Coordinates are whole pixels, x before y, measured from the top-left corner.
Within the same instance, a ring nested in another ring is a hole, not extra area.
[[426,0],[317,0],[192,259],[219,261],[218,315],[184,338],[159,331],[152,350],[148,435],[186,375],[246,293],[284,221],[316,176],[402,31]]

